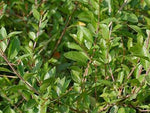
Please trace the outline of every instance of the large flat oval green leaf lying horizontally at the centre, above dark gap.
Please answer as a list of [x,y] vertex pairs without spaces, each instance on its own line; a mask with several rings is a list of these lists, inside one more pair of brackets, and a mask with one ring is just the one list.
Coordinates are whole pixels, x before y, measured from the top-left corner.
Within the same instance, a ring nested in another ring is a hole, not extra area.
[[64,56],[70,60],[77,61],[79,63],[86,64],[88,58],[82,53],[77,51],[70,51],[64,54]]

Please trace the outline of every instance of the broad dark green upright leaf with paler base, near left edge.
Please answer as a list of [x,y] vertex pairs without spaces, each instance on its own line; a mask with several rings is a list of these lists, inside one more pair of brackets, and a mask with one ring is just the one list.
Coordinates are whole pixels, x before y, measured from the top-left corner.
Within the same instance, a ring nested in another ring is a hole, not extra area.
[[19,50],[20,50],[20,41],[17,37],[15,37],[12,39],[10,46],[9,46],[9,50],[8,50],[9,58],[13,59],[14,57],[16,57]]

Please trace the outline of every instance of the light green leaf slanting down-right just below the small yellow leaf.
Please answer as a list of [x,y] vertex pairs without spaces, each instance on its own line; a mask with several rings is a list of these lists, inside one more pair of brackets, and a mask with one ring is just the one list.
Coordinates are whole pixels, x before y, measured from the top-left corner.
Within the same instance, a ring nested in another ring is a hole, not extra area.
[[89,29],[87,29],[86,27],[83,26],[78,26],[79,31],[81,31],[83,33],[83,37],[90,41],[91,43],[93,43],[93,37],[91,32],[89,31]]

